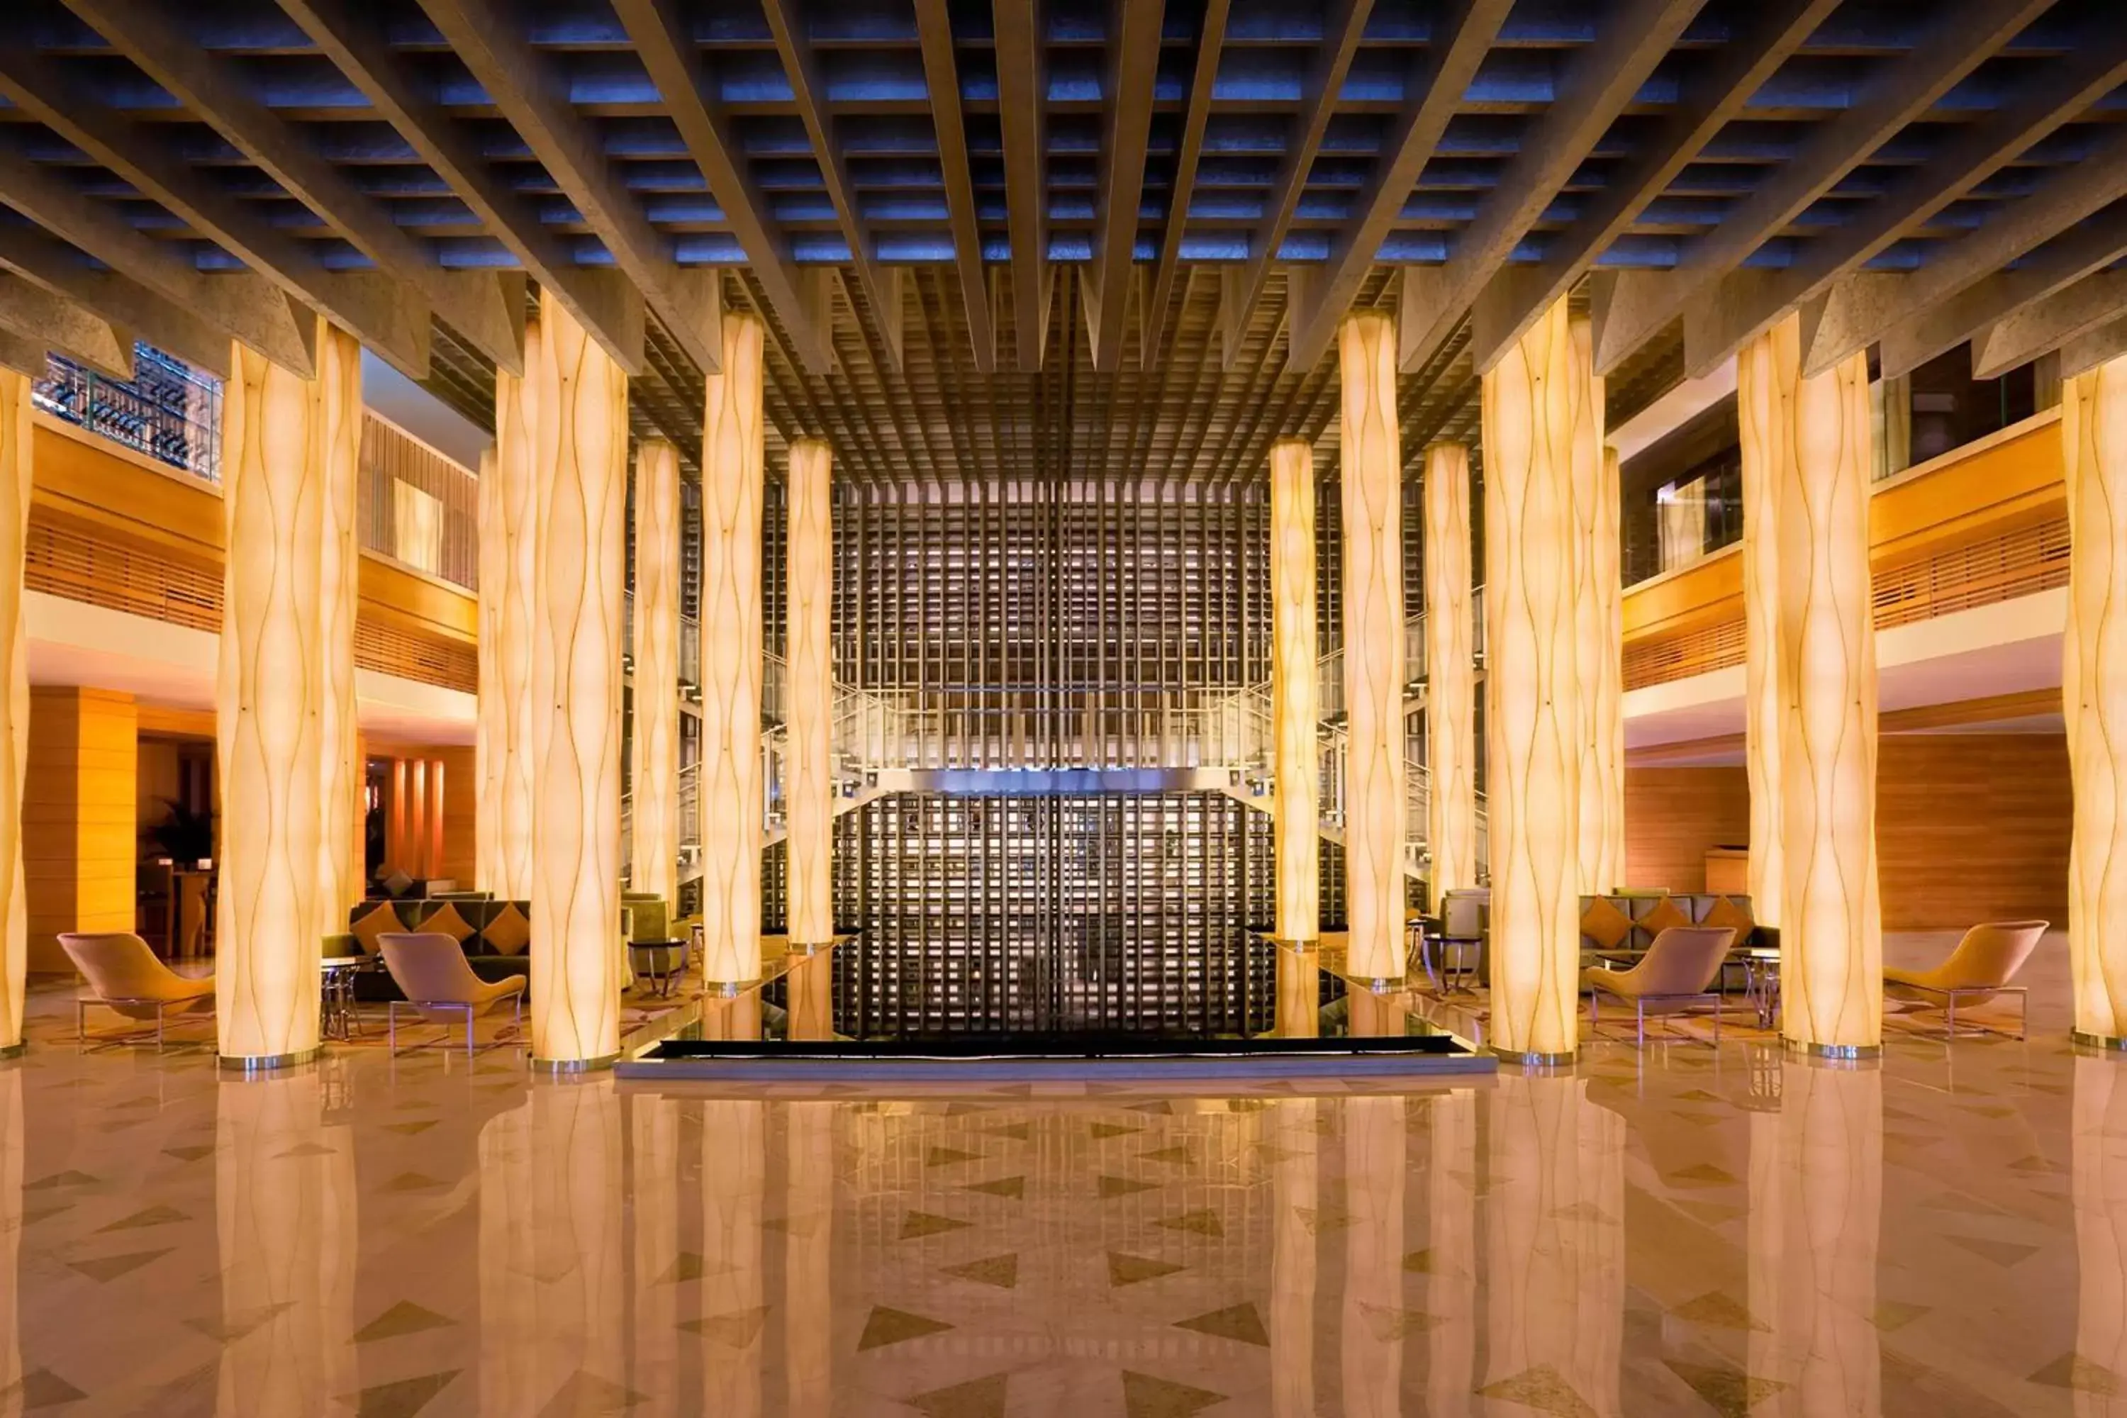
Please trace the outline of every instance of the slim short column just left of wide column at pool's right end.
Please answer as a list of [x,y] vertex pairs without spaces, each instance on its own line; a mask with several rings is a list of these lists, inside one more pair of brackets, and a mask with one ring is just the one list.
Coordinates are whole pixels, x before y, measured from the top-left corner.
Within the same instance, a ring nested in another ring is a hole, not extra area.
[[1470,449],[1425,451],[1425,844],[1434,904],[1476,887],[1476,653],[1470,644]]

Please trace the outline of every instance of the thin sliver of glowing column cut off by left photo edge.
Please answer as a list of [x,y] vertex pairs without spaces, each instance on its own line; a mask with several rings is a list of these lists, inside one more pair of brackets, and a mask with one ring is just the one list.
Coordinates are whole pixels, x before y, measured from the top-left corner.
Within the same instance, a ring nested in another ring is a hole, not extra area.
[[[21,865],[21,780],[30,772],[30,631],[21,565],[30,534],[30,381],[0,370],[0,1050],[21,1044],[30,904]],[[17,1114],[19,1120],[19,1114]]]

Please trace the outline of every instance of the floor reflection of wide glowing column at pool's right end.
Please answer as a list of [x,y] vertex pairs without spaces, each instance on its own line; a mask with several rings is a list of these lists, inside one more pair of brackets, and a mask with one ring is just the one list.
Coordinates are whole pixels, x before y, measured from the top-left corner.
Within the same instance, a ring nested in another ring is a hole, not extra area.
[[1585,1078],[1502,1069],[1489,1097],[1478,1392],[1617,1418],[1625,1120],[1589,1101],[1587,1086]]

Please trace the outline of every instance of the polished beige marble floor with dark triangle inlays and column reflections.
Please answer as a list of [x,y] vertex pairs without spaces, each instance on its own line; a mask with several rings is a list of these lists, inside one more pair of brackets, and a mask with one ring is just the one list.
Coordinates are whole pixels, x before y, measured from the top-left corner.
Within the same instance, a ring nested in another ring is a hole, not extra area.
[[1410,1093],[221,1082],[47,995],[0,1414],[2127,1414],[2127,1063],[2061,955],[2027,1044]]

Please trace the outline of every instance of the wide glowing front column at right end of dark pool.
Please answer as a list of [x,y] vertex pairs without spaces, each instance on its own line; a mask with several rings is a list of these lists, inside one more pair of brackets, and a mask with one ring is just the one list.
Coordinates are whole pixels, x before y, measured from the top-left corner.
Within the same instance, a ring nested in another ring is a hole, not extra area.
[[1491,1020],[1534,1059],[1580,1042],[1574,359],[1559,300],[1483,378]]

